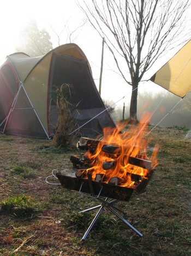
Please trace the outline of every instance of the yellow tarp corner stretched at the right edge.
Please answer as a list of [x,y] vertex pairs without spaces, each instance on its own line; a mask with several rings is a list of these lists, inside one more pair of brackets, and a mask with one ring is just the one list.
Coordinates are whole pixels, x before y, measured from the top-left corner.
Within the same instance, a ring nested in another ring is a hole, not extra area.
[[190,72],[191,40],[166,62],[150,80],[183,98],[191,91]]

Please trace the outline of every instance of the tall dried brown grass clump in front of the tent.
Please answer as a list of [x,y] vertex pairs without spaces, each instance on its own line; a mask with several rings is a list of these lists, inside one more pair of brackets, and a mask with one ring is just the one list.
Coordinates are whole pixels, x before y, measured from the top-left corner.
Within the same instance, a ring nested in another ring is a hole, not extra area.
[[53,143],[57,147],[70,147],[76,136],[76,133],[73,132],[78,126],[77,120],[75,119],[77,105],[70,103],[72,89],[71,84],[66,83],[62,84],[60,89],[57,89],[59,116],[53,138]]

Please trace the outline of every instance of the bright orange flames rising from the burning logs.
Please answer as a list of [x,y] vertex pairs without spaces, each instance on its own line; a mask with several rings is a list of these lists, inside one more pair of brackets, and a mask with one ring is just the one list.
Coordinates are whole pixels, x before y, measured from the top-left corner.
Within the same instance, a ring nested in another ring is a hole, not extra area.
[[[147,117],[142,118],[138,126],[131,125],[126,132],[121,130],[127,126],[127,123],[118,124],[118,128],[115,129],[104,128],[104,136],[99,141],[96,151],[94,153],[87,151],[85,154],[92,162],[92,167],[87,169],[87,172],[92,174],[92,180],[96,179],[97,174],[101,174],[105,183],[108,183],[112,177],[117,177],[120,179],[120,186],[133,187],[135,181],[131,179],[132,174],[146,179],[150,170],[130,164],[129,157],[151,161],[152,169],[158,164],[156,159],[158,145],[154,147],[152,156],[150,158],[147,156],[147,146],[151,141],[145,138],[149,120]],[[104,145],[114,146],[115,151],[104,152]],[[104,162],[111,163],[111,168],[104,169]]]

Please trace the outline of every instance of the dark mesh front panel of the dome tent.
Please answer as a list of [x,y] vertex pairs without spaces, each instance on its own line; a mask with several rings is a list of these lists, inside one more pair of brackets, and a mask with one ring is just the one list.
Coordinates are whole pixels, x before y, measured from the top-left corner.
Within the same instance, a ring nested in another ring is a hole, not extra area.
[[[77,105],[75,118],[79,126],[105,109],[86,61],[71,56],[55,54],[52,64],[49,114],[51,124],[57,123],[59,110],[57,109],[55,92],[62,84],[71,84],[74,88],[71,104]],[[56,112],[57,115],[55,115]],[[103,127],[107,126],[114,127],[114,123],[111,120],[110,122],[108,121],[108,112],[105,111],[98,118],[94,118],[90,123],[87,123],[80,132],[84,135],[94,135],[102,133]]]

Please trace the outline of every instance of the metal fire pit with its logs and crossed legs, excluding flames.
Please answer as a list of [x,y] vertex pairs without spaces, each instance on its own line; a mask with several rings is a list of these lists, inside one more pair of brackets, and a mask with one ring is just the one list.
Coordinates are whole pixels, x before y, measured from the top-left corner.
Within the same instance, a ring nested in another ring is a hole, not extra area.
[[[135,157],[124,154],[123,162],[126,164],[124,168],[126,168],[128,162],[129,170],[125,173],[126,177],[124,178],[123,174],[123,179],[116,176],[111,177],[109,180],[108,178],[105,179],[106,174],[116,168],[116,165],[118,164],[118,156],[122,154],[122,148],[118,145],[104,144],[103,141],[102,143],[102,153],[104,152],[105,156],[109,157],[108,159],[110,161],[105,161],[104,158],[102,168],[97,170],[96,175],[94,174],[94,164],[96,164],[97,160],[95,160],[95,158],[92,160],[91,157],[88,158],[86,152],[88,151],[93,154],[99,145],[99,141],[89,138],[82,138],[77,145],[80,150],[85,152],[81,153],[80,156],[70,157],[70,162],[73,164],[73,168],[65,169],[64,171],[56,174],[59,182],[65,189],[79,191],[81,194],[91,197],[93,200],[97,200],[101,203],[98,206],[85,209],[80,212],[84,213],[99,209],[92,220],[91,225],[89,225],[85,232],[85,235],[82,237],[82,241],[86,239],[89,231],[91,231],[94,223],[96,223],[97,218],[104,208],[109,209],[111,213],[115,214],[117,218],[121,219],[132,230],[134,230],[136,234],[142,237],[143,235],[136,230],[135,227],[130,225],[127,220],[118,214],[118,212],[122,214],[126,213],[121,211],[121,209],[116,207],[114,204],[118,200],[128,202],[133,193],[141,194],[145,192],[148,181],[151,179],[154,170],[151,167],[152,163],[144,158],[140,158],[139,155]],[[131,170],[136,168],[140,168],[141,170],[143,169],[144,175],[131,173]],[[129,186],[127,186],[126,183],[123,183],[124,179],[130,180]]]

